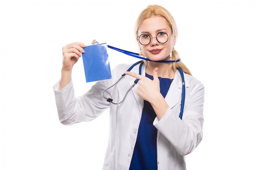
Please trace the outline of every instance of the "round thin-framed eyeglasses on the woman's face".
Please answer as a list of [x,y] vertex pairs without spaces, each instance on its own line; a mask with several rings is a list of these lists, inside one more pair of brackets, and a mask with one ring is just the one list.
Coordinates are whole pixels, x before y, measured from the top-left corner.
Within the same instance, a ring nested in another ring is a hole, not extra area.
[[148,44],[150,43],[150,41],[151,41],[151,38],[156,38],[157,41],[158,41],[160,44],[164,44],[164,43],[166,43],[166,42],[168,41],[168,38],[169,38],[172,34],[173,34],[173,32],[172,32],[170,35],[168,35],[168,34],[165,33],[165,32],[159,32],[156,37],[150,37],[150,35],[144,33],[144,34],[139,35],[138,40],[139,40],[139,43],[140,43],[141,45],[148,45]]

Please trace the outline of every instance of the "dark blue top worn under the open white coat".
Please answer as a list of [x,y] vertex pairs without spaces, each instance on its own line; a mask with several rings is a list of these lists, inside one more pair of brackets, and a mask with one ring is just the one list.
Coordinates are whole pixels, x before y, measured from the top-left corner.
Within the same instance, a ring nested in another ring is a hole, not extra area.
[[[153,80],[152,75],[146,77]],[[161,78],[160,92],[166,96],[173,79]],[[156,114],[151,104],[144,100],[137,141],[129,170],[157,170],[157,128],[153,126]]]

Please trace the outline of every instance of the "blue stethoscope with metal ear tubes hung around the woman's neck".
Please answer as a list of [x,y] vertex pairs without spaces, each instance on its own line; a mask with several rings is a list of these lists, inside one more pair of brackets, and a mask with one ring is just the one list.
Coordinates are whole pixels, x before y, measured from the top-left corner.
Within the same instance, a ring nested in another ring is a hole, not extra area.
[[[144,60],[145,60],[145,58],[144,58]],[[173,60],[171,60],[171,61],[173,61]],[[140,65],[139,65],[139,75],[141,75],[141,68],[142,68],[143,60],[132,64],[132,66],[130,66],[130,68],[128,68],[127,71],[131,71],[132,68],[133,68],[134,66],[136,66],[137,64],[140,64]],[[181,98],[181,108],[180,108],[180,115],[179,115],[180,119],[182,119],[183,110],[184,110],[184,102],[185,102],[185,80],[184,80],[184,73],[183,73],[182,68],[179,67],[178,70],[179,70],[180,75],[181,75],[181,78],[182,78],[182,98]],[[111,87],[115,86],[122,78],[124,78],[125,75],[126,75],[125,73],[124,73],[123,75],[121,75],[121,77],[117,80],[117,82],[116,82],[115,84],[113,84],[112,86],[110,86],[109,88],[107,88],[105,91],[107,91],[107,90],[110,89]],[[121,102],[124,101],[124,99],[125,99],[127,93],[132,89],[133,86],[135,86],[135,84],[138,83],[138,81],[139,81],[139,79],[135,79],[135,81],[134,81],[134,83],[132,84],[132,86],[128,89],[128,91],[126,91],[126,94],[125,94],[124,98],[121,100]],[[103,91],[102,96],[103,96],[105,99],[107,99],[108,102],[111,102],[112,104],[120,104],[120,103],[121,103],[121,102],[114,103],[114,102],[112,102],[113,99],[111,99],[111,98],[106,98],[106,97],[103,95],[105,91]]]

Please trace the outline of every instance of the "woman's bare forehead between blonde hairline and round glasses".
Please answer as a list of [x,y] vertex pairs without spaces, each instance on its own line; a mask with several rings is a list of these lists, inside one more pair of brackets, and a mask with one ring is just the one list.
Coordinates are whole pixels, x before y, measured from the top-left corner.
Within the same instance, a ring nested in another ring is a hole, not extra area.
[[161,16],[152,16],[150,18],[145,19],[141,26],[139,27],[139,33],[141,32],[149,32],[154,33],[159,30],[171,30],[168,25],[167,20]]

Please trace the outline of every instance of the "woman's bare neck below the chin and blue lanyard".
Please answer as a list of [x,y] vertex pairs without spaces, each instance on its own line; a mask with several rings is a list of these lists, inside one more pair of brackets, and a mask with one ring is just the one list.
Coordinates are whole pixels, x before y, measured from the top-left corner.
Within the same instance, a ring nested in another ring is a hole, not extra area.
[[175,71],[171,69],[171,63],[150,62],[146,65],[146,73],[153,75],[153,70],[158,68],[158,77],[173,79]]

